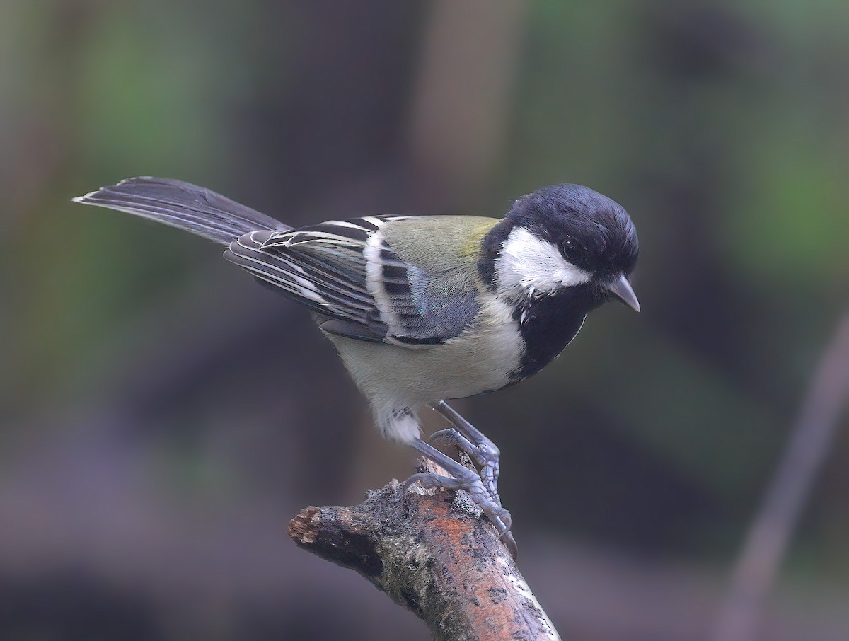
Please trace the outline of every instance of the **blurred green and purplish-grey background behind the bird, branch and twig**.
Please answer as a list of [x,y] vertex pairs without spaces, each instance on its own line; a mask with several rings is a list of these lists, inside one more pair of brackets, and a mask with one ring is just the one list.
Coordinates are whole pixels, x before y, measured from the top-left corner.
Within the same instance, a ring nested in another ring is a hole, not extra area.
[[[708,638],[849,300],[847,20],[0,4],[0,637],[430,638],[286,535],[414,464],[308,314],[202,239],[70,202],[155,175],[293,225],[500,216],[563,182],[624,205],[643,312],[603,307],[542,374],[456,407],[502,449],[520,569],[565,638]],[[849,638],[837,435],[757,638]]]

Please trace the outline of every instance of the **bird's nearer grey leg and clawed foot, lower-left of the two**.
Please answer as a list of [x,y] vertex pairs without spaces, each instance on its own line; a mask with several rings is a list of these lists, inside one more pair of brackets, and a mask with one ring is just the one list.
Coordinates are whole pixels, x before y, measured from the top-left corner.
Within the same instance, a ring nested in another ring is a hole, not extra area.
[[421,439],[416,439],[412,443],[413,447],[426,458],[440,465],[451,476],[442,476],[434,472],[419,472],[414,474],[404,481],[404,492],[407,492],[409,486],[413,483],[419,483],[422,487],[445,487],[449,490],[465,490],[469,492],[469,496],[483,511],[495,529],[498,530],[498,535],[501,537],[504,545],[516,557],[518,552],[516,542],[513,535],[510,534],[510,526],[513,522],[510,513],[501,507],[501,503],[492,500],[489,492],[483,485],[481,477],[475,470],[469,470],[464,464],[460,464],[447,454],[441,453],[436,447],[425,443]]

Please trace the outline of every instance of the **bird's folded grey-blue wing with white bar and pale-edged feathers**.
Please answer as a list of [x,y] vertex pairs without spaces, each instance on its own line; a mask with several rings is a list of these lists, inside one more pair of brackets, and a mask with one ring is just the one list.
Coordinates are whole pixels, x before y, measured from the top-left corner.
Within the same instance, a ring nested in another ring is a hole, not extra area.
[[[250,232],[224,256],[318,313],[322,329],[332,334],[404,346],[438,344],[460,334],[477,315],[469,277],[475,262],[425,269],[405,260],[381,231],[404,220],[408,217],[366,216]],[[420,226],[422,219],[416,220]]]

